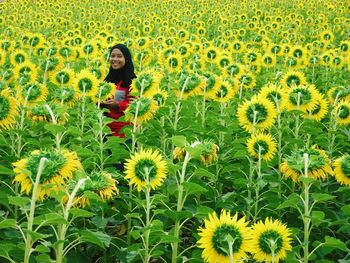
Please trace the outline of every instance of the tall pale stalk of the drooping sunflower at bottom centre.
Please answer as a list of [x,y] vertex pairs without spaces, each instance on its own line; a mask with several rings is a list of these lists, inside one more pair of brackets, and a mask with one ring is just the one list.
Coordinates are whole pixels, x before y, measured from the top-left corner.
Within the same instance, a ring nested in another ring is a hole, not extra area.
[[[182,164],[182,169],[181,169],[181,172],[179,173],[179,180],[176,178],[176,184],[178,189],[176,212],[181,212],[183,205],[185,203],[186,197],[184,196],[183,183],[185,182],[186,169],[190,159],[191,159],[190,154],[186,151],[186,155]],[[182,227],[182,224],[180,224],[180,220],[176,219],[175,226],[174,226],[175,241],[171,244],[171,249],[172,249],[171,262],[172,263],[177,262],[178,246],[179,246],[178,239],[179,239],[180,229]]]

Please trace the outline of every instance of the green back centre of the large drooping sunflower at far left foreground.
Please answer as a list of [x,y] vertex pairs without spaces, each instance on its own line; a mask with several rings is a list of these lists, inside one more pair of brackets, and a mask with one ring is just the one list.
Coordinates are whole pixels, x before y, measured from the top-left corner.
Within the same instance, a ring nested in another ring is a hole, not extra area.
[[62,154],[53,152],[41,152],[39,154],[29,157],[27,168],[31,172],[31,177],[35,180],[36,174],[38,173],[38,167],[40,159],[45,157],[47,162],[45,163],[45,168],[41,174],[40,182],[43,183],[50,180],[54,176],[58,175],[58,171],[63,167],[66,159]]

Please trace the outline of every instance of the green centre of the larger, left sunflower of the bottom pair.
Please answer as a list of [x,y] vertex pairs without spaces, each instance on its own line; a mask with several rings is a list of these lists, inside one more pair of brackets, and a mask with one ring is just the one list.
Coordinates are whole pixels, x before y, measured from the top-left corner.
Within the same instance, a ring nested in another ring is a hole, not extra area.
[[232,245],[233,253],[237,253],[240,250],[243,243],[242,234],[235,226],[227,224],[219,226],[215,230],[211,242],[215,251],[223,256],[229,255],[229,247],[226,240],[226,237],[228,235],[230,235],[234,239]]

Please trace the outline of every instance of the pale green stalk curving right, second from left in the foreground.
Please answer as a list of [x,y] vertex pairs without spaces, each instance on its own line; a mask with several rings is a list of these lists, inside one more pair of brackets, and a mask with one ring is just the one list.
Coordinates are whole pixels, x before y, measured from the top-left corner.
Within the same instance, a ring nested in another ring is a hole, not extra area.
[[[75,198],[77,192],[79,191],[79,189],[84,185],[86,180],[87,180],[87,178],[82,178],[78,181],[78,183],[74,187],[72,193],[70,195],[68,195],[68,201],[67,201],[66,206],[62,206],[63,217],[67,222],[68,222],[68,218],[69,218],[69,211],[72,208],[72,206],[74,205],[74,198]],[[57,240],[59,241],[57,249],[55,250],[56,263],[62,263],[65,254],[67,254],[70,249],[72,249],[73,247],[75,247],[81,243],[81,241],[79,239],[76,239],[76,240],[73,240],[71,243],[69,243],[66,247],[64,247],[64,241],[65,241],[66,233],[67,233],[67,230],[70,226],[70,223],[71,222],[68,222],[67,224],[59,225],[57,232],[55,231]]]

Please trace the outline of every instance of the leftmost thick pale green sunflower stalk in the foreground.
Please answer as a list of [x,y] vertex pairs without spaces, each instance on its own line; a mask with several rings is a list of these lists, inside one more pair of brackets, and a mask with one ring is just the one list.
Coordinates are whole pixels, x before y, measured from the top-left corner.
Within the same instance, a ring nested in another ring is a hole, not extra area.
[[32,193],[32,199],[30,200],[30,209],[29,209],[29,215],[27,216],[28,224],[27,224],[27,236],[24,237],[23,231],[20,229],[21,234],[24,238],[24,263],[29,263],[30,259],[30,254],[33,252],[32,247],[33,247],[33,239],[31,236],[31,232],[33,231],[33,223],[34,223],[34,213],[35,213],[35,203],[38,198],[38,186],[40,184],[40,177],[45,169],[45,163],[47,159],[42,157],[39,162],[39,167],[38,167],[38,172],[35,177],[35,182],[33,185],[33,193]]

